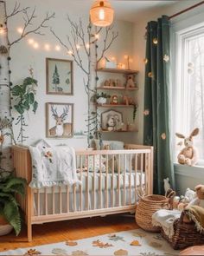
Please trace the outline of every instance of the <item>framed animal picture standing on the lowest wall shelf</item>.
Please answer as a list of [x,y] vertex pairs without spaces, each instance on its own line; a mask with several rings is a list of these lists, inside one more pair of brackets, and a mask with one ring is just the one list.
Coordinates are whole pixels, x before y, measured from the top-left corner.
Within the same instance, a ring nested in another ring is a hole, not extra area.
[[123,115],[116,110],[101,113],[101,128],[107,131],[119,131],[122,128]]

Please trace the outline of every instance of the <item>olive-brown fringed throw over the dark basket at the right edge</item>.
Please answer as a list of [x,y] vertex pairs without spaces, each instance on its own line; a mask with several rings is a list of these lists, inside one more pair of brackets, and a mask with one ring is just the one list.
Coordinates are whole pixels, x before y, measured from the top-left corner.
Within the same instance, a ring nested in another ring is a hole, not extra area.
[[184,213],[188,215],[190,220],[194,220],[197,231],[204,233],[204,208],[189,206],[185,208]]

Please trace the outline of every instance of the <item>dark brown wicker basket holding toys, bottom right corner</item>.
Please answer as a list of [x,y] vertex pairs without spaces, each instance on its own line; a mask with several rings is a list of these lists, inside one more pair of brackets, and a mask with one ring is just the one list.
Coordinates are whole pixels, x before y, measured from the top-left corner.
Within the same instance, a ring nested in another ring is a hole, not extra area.
[[180,219],[175,220],[174,230],[175,233],[171,239],[161,230],[163,238],[169,241],[169,244],[175,249],[184,249],[188,246],[201,246],[204,245],[204,234],[199,233],[194,223],[184,223],[183,213]]

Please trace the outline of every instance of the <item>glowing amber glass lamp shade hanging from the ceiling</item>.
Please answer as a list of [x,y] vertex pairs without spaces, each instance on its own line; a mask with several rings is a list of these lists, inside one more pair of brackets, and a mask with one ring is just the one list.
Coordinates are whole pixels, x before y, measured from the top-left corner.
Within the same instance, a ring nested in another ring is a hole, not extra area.
[[112,9],[111,3],[107,0],[97,0],[92,4],[90,10],[91,22],[93,25],[98,27],[110,26],[113,22],[114,10]]

